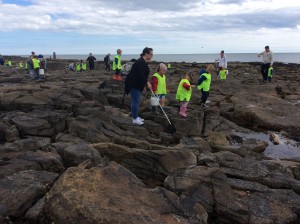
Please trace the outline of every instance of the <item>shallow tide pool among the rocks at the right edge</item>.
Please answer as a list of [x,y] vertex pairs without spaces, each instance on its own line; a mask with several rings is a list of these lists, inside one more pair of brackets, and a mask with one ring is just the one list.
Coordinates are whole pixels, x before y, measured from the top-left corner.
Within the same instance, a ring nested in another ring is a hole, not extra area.
[[[280,143],[275,145],[270,140],[270,136],[266,133],[243,133],[243,132],[234,132],[237,137],[240,137],[240,140],[245,139],[257,139],[264,142],[267,142],[269,145],[264,151],[264,155],[272,159],[295,159],[300,161],[300,142],[297,142],[292,139],[288,139],[283,136],[281,133],[275,133],[279,139]],[[237,144],[237,143],[235,143]]]

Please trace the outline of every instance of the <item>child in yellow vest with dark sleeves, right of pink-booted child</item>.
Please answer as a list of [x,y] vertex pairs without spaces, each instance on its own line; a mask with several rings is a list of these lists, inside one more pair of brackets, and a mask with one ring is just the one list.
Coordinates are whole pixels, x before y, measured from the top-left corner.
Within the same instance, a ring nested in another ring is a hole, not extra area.
[[211,84],[211,75],[214,72],[214,65],[210,64],[207,66],[207,69],[204,73],[201,74],[198,82],[197,82],[197,88],[201,91],[201,106],[207,107],[206,101],[209,96],[209,90],[210,90],[210,84]]

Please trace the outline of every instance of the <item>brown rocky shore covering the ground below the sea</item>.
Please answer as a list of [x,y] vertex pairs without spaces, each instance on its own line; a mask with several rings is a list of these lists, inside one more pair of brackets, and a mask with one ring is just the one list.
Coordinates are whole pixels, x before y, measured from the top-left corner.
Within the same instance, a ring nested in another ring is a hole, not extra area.
[[229,63],[209,107],[195,89],[182,118],[179,80],[207,64],[171,63],[170,133],[149,92],[134,126],[124,81],[70,62],[38,82],[0,66],[0,223],[300,223],[300,65],[263,83],[259,63]]

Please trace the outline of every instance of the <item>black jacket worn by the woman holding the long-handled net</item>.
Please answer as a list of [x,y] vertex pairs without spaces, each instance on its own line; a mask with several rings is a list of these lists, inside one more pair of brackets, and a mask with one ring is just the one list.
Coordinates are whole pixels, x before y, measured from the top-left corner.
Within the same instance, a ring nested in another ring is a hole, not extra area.
[[148,82],[149,74],[150,69],[148,63],[142,57],[140,57],[132,65],[131,71],[125,79],[126,94],[128,94],[132,88],[142,92]]

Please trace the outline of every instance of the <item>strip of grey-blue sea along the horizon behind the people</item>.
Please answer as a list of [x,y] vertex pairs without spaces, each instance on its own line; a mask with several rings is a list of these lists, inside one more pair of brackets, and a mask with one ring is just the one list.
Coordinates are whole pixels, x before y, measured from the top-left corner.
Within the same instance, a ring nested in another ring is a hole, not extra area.
[[[106,55],[106,54],[105,54]],[[94,54],[98,61],[102,61],[105,57],[104,54]],[[51,55],[45,55],[49,57]],[[152,61],[157,62],[187,62],[187,63],[213,63],[218,58],[219,54],[154,54]],[[256,53],[228,53],[225,54],[228,62],[261,62],[262,57],[257,57]],[[58,59],[86,59],[88,54],[57,54]],[[114,57],[111,54],[111,59]],[[123,54],[122,60],[138,59],[140,56],[135,54]],[[282,63],[296,63],[300,64],[300,53],[274,53],[274,62]]]

